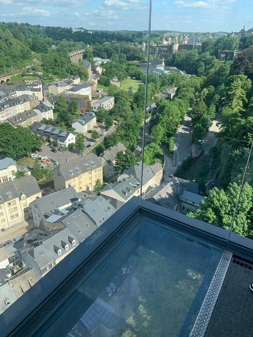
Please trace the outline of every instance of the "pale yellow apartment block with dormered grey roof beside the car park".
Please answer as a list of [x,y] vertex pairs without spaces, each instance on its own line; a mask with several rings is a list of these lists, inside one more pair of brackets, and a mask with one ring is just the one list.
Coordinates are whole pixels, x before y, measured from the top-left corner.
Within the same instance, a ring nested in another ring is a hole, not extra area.
[[76,192],[93,190],[97,179],[103,183],[103,167],[98,157],[90,153],[59,164],[53,176],[56,191],[71,186]]

